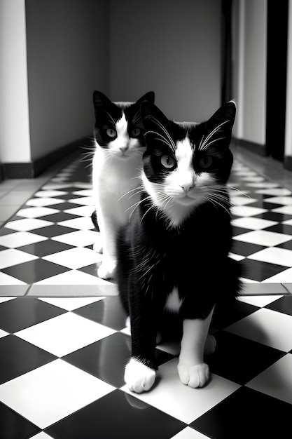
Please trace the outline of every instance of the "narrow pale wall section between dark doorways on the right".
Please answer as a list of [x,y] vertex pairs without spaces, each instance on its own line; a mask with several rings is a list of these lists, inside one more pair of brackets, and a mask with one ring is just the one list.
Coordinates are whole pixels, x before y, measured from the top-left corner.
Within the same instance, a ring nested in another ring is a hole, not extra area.
[[234,134],[239,139],[265,145],[267,1],[235,0],[233,28],[234,90],[238,102]]

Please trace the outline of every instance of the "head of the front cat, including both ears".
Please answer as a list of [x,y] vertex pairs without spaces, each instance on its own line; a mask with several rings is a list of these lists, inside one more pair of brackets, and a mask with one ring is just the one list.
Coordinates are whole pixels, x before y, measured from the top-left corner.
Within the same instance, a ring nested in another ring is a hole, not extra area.
[[235,104],[205,123],[169,121],[154,104],[142,104],[146,133],[142,182],[153,205],[178,226],[202,203],[224,205],[232,166],[229,149]]

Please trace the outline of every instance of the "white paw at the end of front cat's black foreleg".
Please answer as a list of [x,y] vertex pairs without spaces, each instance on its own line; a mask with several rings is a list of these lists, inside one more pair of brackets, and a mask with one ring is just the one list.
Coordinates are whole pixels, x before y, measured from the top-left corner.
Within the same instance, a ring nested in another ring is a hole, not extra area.
[[142,393],[151,389],[155,375],[155,370],[131,358],[125,367],[124,379],[130,391]]

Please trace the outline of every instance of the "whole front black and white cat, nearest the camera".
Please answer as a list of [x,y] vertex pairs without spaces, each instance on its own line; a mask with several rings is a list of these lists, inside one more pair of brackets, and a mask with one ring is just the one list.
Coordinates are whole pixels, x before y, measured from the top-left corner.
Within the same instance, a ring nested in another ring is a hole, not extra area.
[[230,199],[225,183],[235,103],[204,123],[169,121],[154,104],[141,104],[146,151],[140,199],[118,238],[117,281],[132,332],[125,367],[131,391],[155,381],[155,345],[167,313],[181,324],[178,372],[197,388],[209,380],[204,349],[214,306],[235,299],[239,265],[228,257],[232,243]]

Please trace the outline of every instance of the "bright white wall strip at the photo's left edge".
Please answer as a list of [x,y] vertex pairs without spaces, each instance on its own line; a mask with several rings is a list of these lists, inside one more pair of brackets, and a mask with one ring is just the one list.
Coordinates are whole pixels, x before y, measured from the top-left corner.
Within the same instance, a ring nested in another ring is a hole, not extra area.
[[0,1],[0,161],[29,162],[25,0]]

